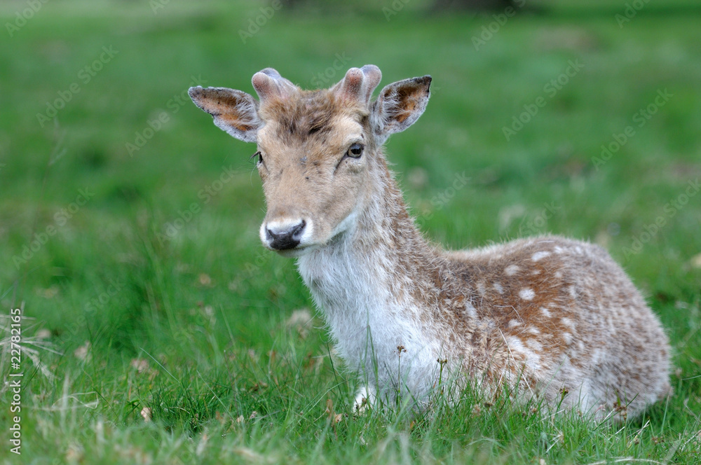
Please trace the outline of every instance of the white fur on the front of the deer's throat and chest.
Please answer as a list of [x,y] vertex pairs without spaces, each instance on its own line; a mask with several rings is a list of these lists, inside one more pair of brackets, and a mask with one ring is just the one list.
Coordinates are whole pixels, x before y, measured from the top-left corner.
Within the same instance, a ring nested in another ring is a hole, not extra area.
[[408,294],[392,291],[386,259],[350,252],[337,244],[297,262],[339,354],[379,396],[407,390],[425,396],[438,372],[440,344],[426,333]]

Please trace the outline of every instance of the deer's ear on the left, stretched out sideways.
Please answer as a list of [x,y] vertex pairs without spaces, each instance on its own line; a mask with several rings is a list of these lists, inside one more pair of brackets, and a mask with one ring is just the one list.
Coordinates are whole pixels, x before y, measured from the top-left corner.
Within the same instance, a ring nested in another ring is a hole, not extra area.
[[190,98],[200,109],[215,118],[215,125],[244,142],[255,142],[263,121],[258,116],[256,99],[240,90],[190,88]]

